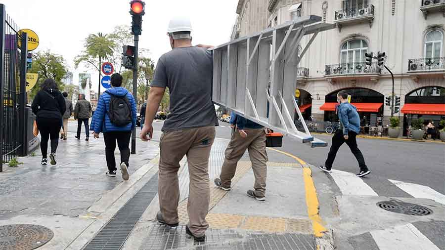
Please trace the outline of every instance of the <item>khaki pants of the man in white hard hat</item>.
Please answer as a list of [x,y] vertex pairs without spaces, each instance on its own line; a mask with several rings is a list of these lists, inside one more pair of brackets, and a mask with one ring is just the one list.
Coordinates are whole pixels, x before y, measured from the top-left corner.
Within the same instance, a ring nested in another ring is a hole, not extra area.
[[209,211],[209,157],[215,140],[215,126],[169,131],[161,136],[159,147],[159,205],[164,220],[178,223],[179,162],[187,156],[190,174],[187,212],[189,229],[201,237],[209,227],[206,216]]

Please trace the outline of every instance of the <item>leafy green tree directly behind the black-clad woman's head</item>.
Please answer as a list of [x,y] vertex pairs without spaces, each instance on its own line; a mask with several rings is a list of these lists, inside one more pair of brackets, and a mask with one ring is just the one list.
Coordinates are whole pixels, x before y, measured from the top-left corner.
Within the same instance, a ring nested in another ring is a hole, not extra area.
[[59,89],[64,88],[63,78],[68,74],[68,68],[66,67],[65,59],[61,55],[52,53],[49,49],[45,51],[39,51],[33,55],[33,65],[29,73],[39,74],[39,79],[36,86],[30,91],[30,99],[36,96],[40,90],[40,85],[47,78],[54,79]]

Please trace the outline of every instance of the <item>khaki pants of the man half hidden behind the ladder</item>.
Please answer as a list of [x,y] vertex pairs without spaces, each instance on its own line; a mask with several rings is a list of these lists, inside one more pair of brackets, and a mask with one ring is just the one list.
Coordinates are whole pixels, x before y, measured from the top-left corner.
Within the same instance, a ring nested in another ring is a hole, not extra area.
[[238,130],[235,130],[225,150],[225,158],[220,175],[221,184],[223,187],[230,187],[232,183],[231,180],[233,176],[235,176],[236,165],[247,149],[255,175],[255,195],[264,197],[266,194],[266,164],[268,160],[266,153],[266,132],[264,128],[245,128],[244,131],[247,133],[246,138],[241,137]]

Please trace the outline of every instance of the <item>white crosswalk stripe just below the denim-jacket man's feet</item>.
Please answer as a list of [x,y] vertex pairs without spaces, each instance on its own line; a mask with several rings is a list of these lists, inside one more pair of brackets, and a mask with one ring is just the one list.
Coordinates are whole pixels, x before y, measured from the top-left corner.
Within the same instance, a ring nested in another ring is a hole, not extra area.
[[344,195],[378,196],[368,184],[353,173],[333,169],[331,176]]

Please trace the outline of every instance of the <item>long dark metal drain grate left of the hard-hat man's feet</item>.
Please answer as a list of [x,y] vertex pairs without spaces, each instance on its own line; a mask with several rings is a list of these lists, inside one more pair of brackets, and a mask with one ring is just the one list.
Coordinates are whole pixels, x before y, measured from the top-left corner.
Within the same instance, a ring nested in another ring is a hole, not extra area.
[[131,198],[94,236],[84,250],[119,250],[158,193],[158,174]]

